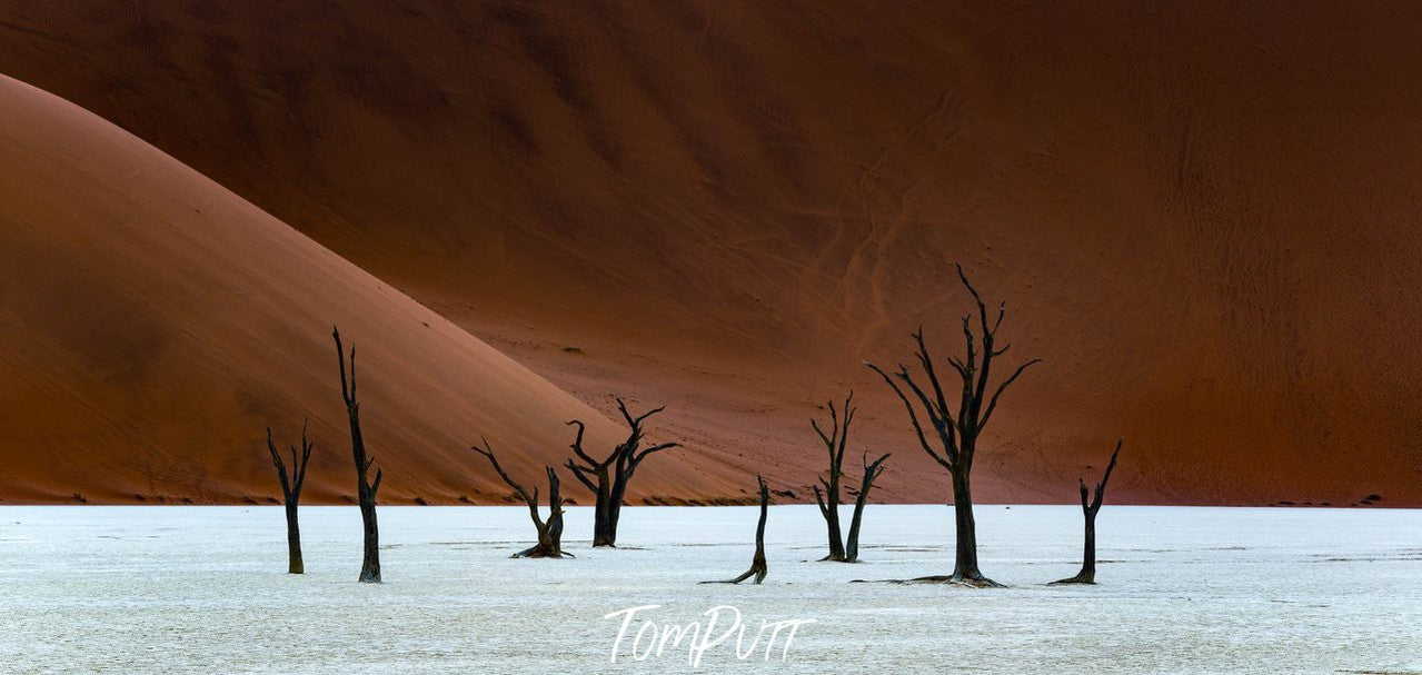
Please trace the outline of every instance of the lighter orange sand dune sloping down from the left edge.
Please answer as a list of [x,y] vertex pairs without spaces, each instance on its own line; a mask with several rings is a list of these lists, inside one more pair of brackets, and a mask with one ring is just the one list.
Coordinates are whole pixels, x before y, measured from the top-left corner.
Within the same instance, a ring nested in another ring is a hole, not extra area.
[[[566,419],[617,428],[438,314],[117,126],[0,78],[0,497],[237,502],[279,495],[263,426],[311,416],[307,493],[354,492],[333,323],[357,345],[381,496],[506,493]],[[640,495],[729,495],[648,460]],[[670,462],[668,462],[670,463]],[[688,466],[704,466],[697,459]],[[572,489],[582,499],[580,489]]]

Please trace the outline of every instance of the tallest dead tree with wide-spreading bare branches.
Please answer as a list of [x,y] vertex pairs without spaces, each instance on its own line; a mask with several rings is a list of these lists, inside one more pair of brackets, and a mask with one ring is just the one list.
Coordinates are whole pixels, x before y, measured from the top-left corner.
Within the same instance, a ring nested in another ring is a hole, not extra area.
[[[983,429],[987,426],[988,421],[993,418],[993,411],[997,409],[997,402],[1012,382],[1017,381],[1022,372],[1034,364],[1041,362],[1041,360],[1034,358],[1008,375],[997,388],[988,395],[988,378],[993,371],[994,360],[1007,352],[1008,347],[997,347],[997,330],[1003,325],[1003,317],[1007,314],[1007,303],[998,306],[997,320],[988,323],[987,306],[983,303],[983,297],[978,296],[977,288],[968,281],[968,277],[963,273],[961,266],[954,266],[958,271],[958,280],[967,287],[968,293],[973,296],[973,301],[977,304],[977,337],[973,330],[973,315],[963,317],[963,338],[967,342],[967,358],[958,360],[957,357],[948,357],[948,365],[957,371],[958,378],[961,378],[961,389],[957,392],[957,411],[948,406],[948,391],[944,391],[943,382],[939,379],[939,374],[934,369],[933,358],[929,355],[929,348],[923,341],[923,328],[919,328],[913,334],[919,350],[914,357],[919,360],[919,365],[923,368],[923,375],[927,379],[927,389],[913,379],[909,374],[909,368],[899,364],[899,368],[890,375],[877,365],[865,362],[869,368],[873,368],[889,384],[889,387],[899,395],[899,401],[903,402],[904,409],[909,412],[909,421],[913,423],[914,435],[919,438],[919,445],[923,446],[923,452],[927,452],[939,465],[948,470],[953,483],[953,504],[954,504],[954,520],[957,533],[957,556],[953,563],[953,574],[948,577],[923,577],[916,581],[947,581],[975,587],[991,587],[1001,585],[983,576],[978,570],[977,560],[977,524],[973,520],[973,459],[977,455],[978,438]],[[978,337],[983,341],[981,350],[977,348]],[[900,382],[903,387],[900,387]],[[909,394],[904,394],[904,388]],[[913,396],[910,401],[909,396]],[[923,416],[927,418],[930,431],[924,431],[924,425],[920,423],[920,414],[914,408],[917,402],[919,408],[923,409]],[[933,433],[939,449],[934,449],[929,442],[929,433]]]

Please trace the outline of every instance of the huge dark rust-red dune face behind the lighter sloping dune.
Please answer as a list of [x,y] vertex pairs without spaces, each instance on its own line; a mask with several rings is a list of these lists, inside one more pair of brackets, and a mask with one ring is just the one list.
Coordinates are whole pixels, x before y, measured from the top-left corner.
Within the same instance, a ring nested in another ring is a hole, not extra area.
[[946,499],[859,360],[957,348],[961,260],[1047,360],[980,497],[1125,436],[1118,500],[1422,503],[1413,3],[141,4],[11,4],[0,72],[688,456],[805,486],[853,387]]

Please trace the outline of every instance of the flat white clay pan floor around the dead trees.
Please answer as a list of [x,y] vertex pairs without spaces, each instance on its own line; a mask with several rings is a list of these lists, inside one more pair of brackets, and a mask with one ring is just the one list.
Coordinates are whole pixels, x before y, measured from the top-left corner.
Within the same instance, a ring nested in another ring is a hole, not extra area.
[[653,621],[691,622],[729,604],[747,648],[761,620],[816,622],[785,662],[727,642],[697,672],[1422,671],[1422,512],[1108,504],[1101,584],[1062,588],[1042,584],[1076,570],[1079,509],[980,506],[984,571],[1005,590],[849,583],[947,571],[943,506],[872,506],[855,566],[809,561],[813,506],[774,507],[761,587],[697,584],[748,566],[751,507],[629,507],[624,549],[597,551],[574,507],[576,560],[510,560],[532,534],[522,507],[383,507],[380,585],[354,581],[354,507],[301,516],[309,574],[293,577],[279,507],[0,507],[3,669],[691,672],[670,647],[610,664],[603,615],[660,604]]

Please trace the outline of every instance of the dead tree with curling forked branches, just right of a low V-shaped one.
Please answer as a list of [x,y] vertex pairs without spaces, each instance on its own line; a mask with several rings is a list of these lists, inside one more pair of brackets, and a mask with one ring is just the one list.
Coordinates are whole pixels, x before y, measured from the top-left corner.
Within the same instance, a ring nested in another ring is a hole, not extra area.
[[665,406],[633,416],[631,412],[627,412],[627,404],[619,398],[617,409],[621,411],[623,419],[627,421],[627,441],[619,443],[613,448],[611,455],[600,460],[593,459],[583,450],[583,431],[586,431],[583,422],[577,419],[569,422],[569,425],[577,426],[577,436],[569,448],[573,449],[576,459],[583,463],[569,459],[566,466],[573,470],[573,476],[577,477],[579,483],[583,483],[584,487],[596,495],[593,507],[593,547],[617,546],[617,522],[621,517],[623,499],[627,496],[627,483],[631,482],[641,462],[654,452],[681,448],[681,443],[660,443],[641,449],[641,423],[647,418],[664,411]]

